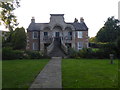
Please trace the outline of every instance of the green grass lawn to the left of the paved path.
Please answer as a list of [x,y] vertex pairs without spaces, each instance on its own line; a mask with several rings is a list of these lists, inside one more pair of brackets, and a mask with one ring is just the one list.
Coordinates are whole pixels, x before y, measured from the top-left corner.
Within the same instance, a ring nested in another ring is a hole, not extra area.
[[48,60],[2,61],[2,88],[28,88]]

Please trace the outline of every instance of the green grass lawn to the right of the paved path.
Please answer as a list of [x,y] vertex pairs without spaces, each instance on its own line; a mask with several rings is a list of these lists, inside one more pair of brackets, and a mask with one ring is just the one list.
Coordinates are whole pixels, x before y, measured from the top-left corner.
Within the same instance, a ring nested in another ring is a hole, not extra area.
[[118,88],[118,60],[63,59],[63,88]]

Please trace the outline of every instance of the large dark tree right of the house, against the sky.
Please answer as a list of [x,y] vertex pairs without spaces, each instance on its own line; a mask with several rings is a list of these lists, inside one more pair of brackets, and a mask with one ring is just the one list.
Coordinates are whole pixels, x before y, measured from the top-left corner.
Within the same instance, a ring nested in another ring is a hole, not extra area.
[[120,21],[114,17],[108,18],[104,26],[98,31],[96,39],[98,42],[115,42],[120,35]]

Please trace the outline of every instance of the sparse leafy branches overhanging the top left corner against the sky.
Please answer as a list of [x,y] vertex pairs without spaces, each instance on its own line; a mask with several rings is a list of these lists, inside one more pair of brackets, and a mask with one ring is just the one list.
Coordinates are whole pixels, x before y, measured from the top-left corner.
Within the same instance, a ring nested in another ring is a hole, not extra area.
[[0,2],[0,23],[3,23],[10,32],[18,25],[16,16],[13,11],[19,7],[19,0],[13,2]]

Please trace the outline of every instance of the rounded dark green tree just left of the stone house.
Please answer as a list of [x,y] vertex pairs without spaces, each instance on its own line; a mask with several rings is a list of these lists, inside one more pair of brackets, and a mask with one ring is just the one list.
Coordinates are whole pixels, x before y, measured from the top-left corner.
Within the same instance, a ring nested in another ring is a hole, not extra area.
[[12,34],[13,49],[25,49],[26,48],[26,33],[23,27],[16,28]]

